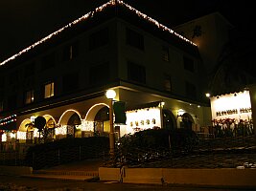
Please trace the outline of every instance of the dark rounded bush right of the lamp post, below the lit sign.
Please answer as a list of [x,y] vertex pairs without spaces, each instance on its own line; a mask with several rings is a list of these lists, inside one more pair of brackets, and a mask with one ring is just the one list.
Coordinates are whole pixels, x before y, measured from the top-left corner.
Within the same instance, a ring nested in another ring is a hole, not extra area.
[[149,129],[126,135],[117,142],[120,165],[140,164],[192,152],[198,144],[197,134],[189,129]]

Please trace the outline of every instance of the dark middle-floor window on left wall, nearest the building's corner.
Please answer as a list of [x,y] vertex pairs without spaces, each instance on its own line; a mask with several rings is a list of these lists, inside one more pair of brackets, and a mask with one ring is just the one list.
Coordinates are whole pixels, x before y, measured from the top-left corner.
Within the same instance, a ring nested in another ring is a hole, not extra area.
[[90,68],[90,83],[101,83],[109,80],[109,64],[103,63]]

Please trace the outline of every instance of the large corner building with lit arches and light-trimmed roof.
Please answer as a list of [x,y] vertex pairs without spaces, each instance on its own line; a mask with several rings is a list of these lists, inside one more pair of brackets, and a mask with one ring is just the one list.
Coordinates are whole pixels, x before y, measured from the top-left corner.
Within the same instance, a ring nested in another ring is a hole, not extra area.
[[0,63],[0,130],[6,148],[49,138],[107,136],[109,99],[126,103],[116,137],[149,128],[211,124],[196,44],[122,1],[109,1]]

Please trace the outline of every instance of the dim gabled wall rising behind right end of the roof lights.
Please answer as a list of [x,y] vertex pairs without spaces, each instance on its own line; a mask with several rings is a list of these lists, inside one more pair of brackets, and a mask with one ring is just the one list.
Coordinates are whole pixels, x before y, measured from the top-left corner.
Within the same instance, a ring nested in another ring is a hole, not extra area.
[[234,26],[220,12],[213,12],[175,27],[197,44],[207,74],[213,74]]

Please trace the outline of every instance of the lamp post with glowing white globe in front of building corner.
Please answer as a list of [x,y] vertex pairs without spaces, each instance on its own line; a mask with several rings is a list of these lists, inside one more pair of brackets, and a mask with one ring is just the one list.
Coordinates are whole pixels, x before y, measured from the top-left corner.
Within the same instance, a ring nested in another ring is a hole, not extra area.
[[109,153],[111,157],[114,156],[115,150],[115,137],[114,137],[114,122],[113,122],[113,99],[116,96],[114,90],[107,90],[105,94],[106,98],[110,100],[109,104],[109,123],[110,123],[110,133],[109,133]]

